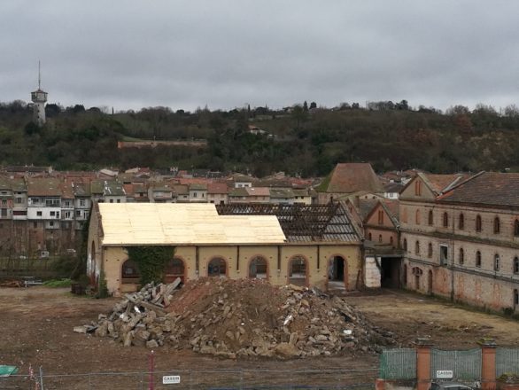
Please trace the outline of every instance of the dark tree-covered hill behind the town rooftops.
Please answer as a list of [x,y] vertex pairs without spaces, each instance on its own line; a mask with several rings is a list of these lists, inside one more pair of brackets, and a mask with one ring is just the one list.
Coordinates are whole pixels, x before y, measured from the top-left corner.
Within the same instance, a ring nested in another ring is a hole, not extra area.
[[[383,103],[383,104],[382,104]],[[390,102],[391,103],[391,102]],[[355,108],[352,108],[355,107]],[[387,102],[302,106],[275,111],[208,109],[188,113],[167,107],[108,114],[82,105],[46,106],[48,121],[31,122],[24,102],[0,104],[1,163],[57,169],[211,168],[326,175],[340,161],[370,162],[376,171],[422,168],[434,173],[519,169],[519,111],[490,106],[411,109]],[[252,134],[249,126],[264,130]],[[119,141],[206,140],[208,147],[158,144],[149,152],[118,149]]]

